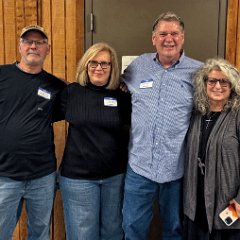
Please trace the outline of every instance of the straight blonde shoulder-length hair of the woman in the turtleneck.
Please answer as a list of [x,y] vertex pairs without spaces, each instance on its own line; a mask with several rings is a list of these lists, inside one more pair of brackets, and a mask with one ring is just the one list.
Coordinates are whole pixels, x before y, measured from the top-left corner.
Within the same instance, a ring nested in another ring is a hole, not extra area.
[[107,51],[111,59],[111,73],[106,89],[117,89],[120,84],[120,75],[116,51],[107,43],[100,42],[92,45],[78,62],[76,81],[81,86],[86,86],[89,82],[87,67],[90,60],[92,60],[99,52]]

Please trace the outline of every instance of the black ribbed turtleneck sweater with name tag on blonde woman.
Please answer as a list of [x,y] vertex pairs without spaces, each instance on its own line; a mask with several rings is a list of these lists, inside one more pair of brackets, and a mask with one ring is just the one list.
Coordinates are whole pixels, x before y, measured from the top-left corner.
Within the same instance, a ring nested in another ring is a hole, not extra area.
[[68,85],[63,93],[69,128],[61,175],[101,179],[125,172],[130,95],[78,83]]

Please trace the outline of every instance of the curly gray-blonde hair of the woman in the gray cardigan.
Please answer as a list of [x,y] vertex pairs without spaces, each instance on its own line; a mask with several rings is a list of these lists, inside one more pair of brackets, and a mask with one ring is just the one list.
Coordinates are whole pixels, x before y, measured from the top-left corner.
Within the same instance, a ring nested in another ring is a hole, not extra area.
[[240,107],[240,75],[238,69],[223,58],[210,58],[195,73],[193,78],[193,84],[195,87],[195,110],[203,115],[210,112],[206,80],[208,74],[213,70],[221,71],[231,83],[231,94],[223,110],[235,110]]

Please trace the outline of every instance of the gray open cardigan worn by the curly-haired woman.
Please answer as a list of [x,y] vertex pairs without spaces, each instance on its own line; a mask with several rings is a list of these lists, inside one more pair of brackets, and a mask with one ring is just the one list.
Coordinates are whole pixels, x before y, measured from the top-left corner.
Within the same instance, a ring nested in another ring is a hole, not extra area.
[[[184,175],[184,214],[195,219],[197,204],[197,158],[201,115],[194,113],[187,137]],[[240,219],[228,227],[219,213],[233,198],[240,203],[240,110],[224,111],[215,123],[206,147],[205,203],[209,231],[240,229]]]

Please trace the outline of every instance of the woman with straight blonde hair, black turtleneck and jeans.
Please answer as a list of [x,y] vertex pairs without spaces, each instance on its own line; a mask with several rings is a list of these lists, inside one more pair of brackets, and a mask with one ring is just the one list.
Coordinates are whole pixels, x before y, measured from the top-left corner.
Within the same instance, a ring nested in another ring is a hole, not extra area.
[[69,123],[60,167],[67,239],[121,240],[131,99],[119,90],[115,50],[91,46],[76,81],[62,96]]

